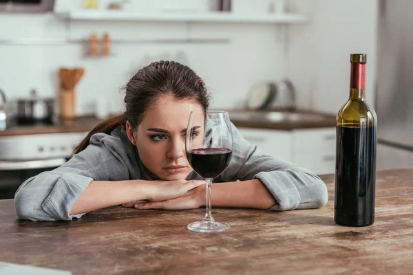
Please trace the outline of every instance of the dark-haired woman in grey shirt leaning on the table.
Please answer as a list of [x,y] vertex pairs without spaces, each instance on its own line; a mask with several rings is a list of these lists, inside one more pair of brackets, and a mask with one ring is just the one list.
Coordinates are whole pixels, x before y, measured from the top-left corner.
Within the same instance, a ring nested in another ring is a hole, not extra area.
[[[25,181],[15,196],[21,219],[72,220],[122,204],[136,209],[204,206],[204,181],[189,166],[191,111],[206,111],[202,79],[176,62],[151,63],[129,80],[126,111],[101,122],[66,164]],[[266,155],[233,127],[231,162],[213,184],[213,206],[293,210],[328,200],[308,170]]]

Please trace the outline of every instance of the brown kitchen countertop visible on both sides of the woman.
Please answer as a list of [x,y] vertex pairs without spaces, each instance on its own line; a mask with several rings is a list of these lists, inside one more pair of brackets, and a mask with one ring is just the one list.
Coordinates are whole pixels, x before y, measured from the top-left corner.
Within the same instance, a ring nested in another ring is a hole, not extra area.
[[[300,113],[321,114],[315,111],[299,111]],[[233,124],[237,127],[258,128],[258,129],[277,129],[290,131],[293,129],[310,129],[322,127],[334,127],[336,124],[335,116],[328,114],[321,114],[322,120],[316,121],[275,121],[268,122],[267,120],[236,120],[231,119]],[[33,135],[42,133],[73,133],[73,132],[87,132],[90,131],[100,122],[94,116],[78,117],[74,120],[59,120],[54,125],[41,126],[17,126],[0,131],[1,136],[8,135]]]

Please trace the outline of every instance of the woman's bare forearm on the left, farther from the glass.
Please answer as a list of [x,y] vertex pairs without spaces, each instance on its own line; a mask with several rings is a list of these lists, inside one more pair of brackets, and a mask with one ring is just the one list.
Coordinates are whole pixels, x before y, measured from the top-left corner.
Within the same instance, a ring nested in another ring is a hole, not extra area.
[[91,181],[74,203],[70,214],[81,214],[148,197],[146,188],[143,188],[138,180]]

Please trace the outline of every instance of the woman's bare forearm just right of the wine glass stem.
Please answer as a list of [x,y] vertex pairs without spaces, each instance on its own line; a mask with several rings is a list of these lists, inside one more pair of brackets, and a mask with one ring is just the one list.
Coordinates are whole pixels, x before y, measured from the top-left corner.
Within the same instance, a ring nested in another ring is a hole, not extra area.
[[213,206],[222,207],[268,209],[277,203],[260,179],[213,184],[211,197]]

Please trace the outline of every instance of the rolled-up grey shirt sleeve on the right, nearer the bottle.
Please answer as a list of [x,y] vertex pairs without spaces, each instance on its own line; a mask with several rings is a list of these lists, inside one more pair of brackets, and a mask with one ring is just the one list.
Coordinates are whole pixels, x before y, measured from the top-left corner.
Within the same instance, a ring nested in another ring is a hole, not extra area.
[[269,210],[319,208],[326,205],[326,184],[306,168],[260,151],[232,124],[233,155],[222,181],[260,179],[277,203]]

